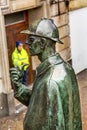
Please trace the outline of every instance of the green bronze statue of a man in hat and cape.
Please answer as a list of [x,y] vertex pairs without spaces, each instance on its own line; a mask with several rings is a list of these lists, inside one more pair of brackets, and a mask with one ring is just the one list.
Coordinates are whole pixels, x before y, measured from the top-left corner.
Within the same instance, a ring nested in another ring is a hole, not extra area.
[[41,64],[36,69],[33,89],[21,84],[20,73],[11,69],[14,95],[28,107],[24,130],[82,130],[80,98],[76,76],[71,65],[55,51],[58,29],[51,19],[41,19],[36,28],[22,31],[29,35],[31,56]]

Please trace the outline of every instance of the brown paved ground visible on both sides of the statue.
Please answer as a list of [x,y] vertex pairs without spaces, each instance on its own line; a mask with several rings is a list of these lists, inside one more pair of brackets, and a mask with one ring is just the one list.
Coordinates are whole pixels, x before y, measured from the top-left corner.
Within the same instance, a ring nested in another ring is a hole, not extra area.
[[[77,75],[79,92],[81,99],[82,111],[82,130],[87,130],[87,70]],[[0,119],[0,130],[23,130],[23,119],[26,113],[26,108],[21,113],[16,111],[16,114],[11,117]]]

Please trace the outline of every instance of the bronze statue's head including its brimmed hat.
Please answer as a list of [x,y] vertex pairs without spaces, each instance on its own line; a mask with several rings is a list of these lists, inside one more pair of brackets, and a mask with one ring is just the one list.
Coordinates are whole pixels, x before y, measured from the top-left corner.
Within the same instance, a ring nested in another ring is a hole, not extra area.
[[[21,33],[28,34],[29,36],[26,43],[29,45],[31,55],[41,53],[47,40],[62,44],[59,40],[58,28],[52,19],[43,18],[37,23],[32,24],[29,30],[23,30]],[[33,45],[31,45],[32,43]]]

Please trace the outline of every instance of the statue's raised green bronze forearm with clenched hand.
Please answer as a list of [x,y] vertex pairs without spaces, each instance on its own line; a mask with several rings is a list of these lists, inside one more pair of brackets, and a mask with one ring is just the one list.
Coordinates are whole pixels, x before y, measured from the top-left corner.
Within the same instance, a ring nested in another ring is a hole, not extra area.
[[14,96],[22,104],[28,106],[31,98],[32,90],[29,90],[25,85],[21,83],[21,71],[18,68],[10,69],[10,77],[14,83]]

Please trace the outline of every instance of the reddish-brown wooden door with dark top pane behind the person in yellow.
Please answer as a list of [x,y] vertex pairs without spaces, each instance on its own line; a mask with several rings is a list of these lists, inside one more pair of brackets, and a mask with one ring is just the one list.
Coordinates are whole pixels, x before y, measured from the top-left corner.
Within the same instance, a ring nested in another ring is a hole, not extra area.
[[[17,12],[13,14],[8,14],[5,16],[5,26],[6,26],[6,36],[7,36],[7,47],[8,47],[8,56],[9,56],[9,66],[10,68],[12,65],[11,55],[15,48],[15,42],[17,40],[25,42],[27,35],[20,34],[21,30],[28,29],[28,12]],[[24,44],[24,48],[29,53],[28,47]],[[30,57],[30,56],[29,56]],[[32,72],[32,61],[31,57],[30,60],[30,67],[29,67],[29,78],[28,84],[33,82],[33,72]]]

